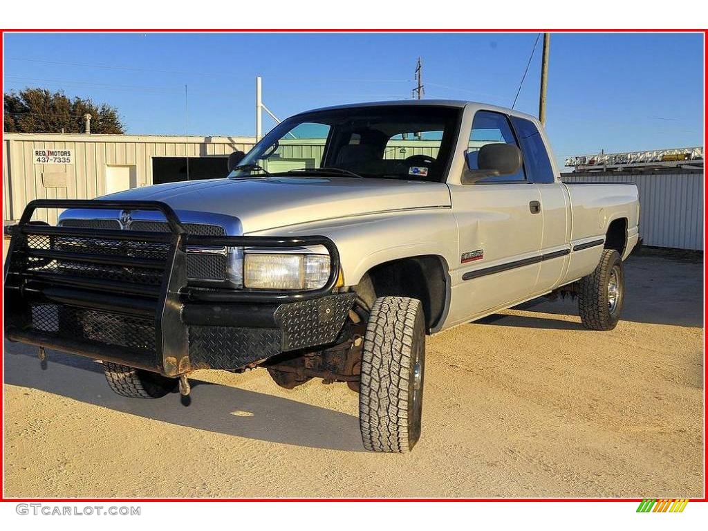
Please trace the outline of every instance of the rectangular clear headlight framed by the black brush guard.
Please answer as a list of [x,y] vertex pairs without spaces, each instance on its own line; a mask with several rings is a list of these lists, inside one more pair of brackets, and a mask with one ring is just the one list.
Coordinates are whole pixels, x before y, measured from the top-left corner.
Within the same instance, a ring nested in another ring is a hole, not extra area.
[[329,278],[329,255],[245,253],[244,287],[316,290]]

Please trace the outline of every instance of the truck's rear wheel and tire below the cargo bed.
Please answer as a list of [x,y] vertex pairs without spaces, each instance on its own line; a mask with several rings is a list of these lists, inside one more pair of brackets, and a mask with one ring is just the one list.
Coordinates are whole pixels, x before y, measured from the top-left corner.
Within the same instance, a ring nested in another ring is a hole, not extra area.
[[578,307],[583,326],[590,330],[612,330],[624,305],[624,265],[619,253],[605,249],[593,273],[581,278]]

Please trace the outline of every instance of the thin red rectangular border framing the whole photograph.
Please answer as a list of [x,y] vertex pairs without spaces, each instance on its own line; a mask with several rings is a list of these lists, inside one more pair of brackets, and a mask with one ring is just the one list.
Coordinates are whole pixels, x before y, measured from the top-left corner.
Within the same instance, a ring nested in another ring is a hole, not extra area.
[[[92,29],[92,30],[87,30],[87,29],[74,29],[74,30],[57,30],[57,29],[40,29],[40,28],[35,28],[35,29],[19,29],[19,30],[10,30],[10,29],[3,29],[0,28],[0,68],[4,66],[4,50],[3,50],[3,45],[4,45],[4,34],[5,33],[538,33],[538,32],[544,32],[544,31],[549,31],[552,33],[702,33],[703,34],[703,60],[704,60],[704,84],[703,84],[703,91],[704,91],[704,142],[705,142],[705,132],[708,130],[708,114],[706,113],[706,107],[705,107],[705,96],[706,96],[706,89],[708,86],[708,30],[707,29],[683,29],[683,30],[667,30],[667,29],[612,29],[612,30],[603,30],[603,29],[551,29],[551,28],[546,28],[546,29],[529,29],[529,28],[518,28],[518,29],[460,29],[460,28],[449,28],[449,29],[421,29],[421,28],[387,28],[387,29],[362,29],[362,28],[357,28],[357,29],[351,29],[351,28],[340,28],[340,29],[332,29],[332,28],[327,28],[327,29],[319,29],[319,28],[297,28],[297,29],[279,29],[279,28],[255,28],[255,29],[232,29],[232,28],[224,28],[224,29],[189,29],[189,28],[183,28],[183,29],[139,29],[139,28],[127,28],[127,29],[113,29],[113,28],[108,28],[108,29]],[[2,79],[0,79],[0,89],[2,89],[4,93],[4,76]],[[0,140],[4,139],[4,131],[0,131]],[[2,154],[0,154],[0,161],[4,159],[4,151]],[[704,178],[705,178],[705,173],[704,173]],[[0,184],[0,192],[2,190],[2,184]],[[0,212],[2,210],[3,205],[0,204]],[[705,212],[704,212],[704,232],[703,232],[703,237],[704,237],[704,244],[707,241],[707,230],[708,230],[708,222],[707,218],[705,217]],[[705,248],[705,245],[704,245]],[[706,435],[708,432],[708,422],[706,419],[706,411],[705,411],[705,399],[706,399],[706,392],[705,392],[705,385],[708,380],[708,367],[706,367],[705,363],[705,351],[706,351],[706,336],[705,336],[705,311],[706,311],[706,296],[707,296],[707,290],[706,290],[706,285],[708,283],[708,273],[705,268],[704,264],[704,284],[703,284],[703,301],[704,301],[704,335],[703,335],[703,370],[704,370],[704,375],[703,375],[703,403],[704,403],[704,411],[703,411],[703,421],[704,421],[704,457],[703,457],[703,481],[704,481],[704,493],[703,493],[703,498],[689,498],[690,501],[701,501],[701,502],[708,502],[708,493],[706,491],[706,479],[708,476],[708,446],[706,445]],[[0,302],[2,300],[2,295],[0,292]],[[2,320],[2,312],[3,309],[0,305],[0,321]],[[2,382],[4,382],[3,376],[3,370],[4,366],[3,363],[0,363],[0,379]],[[3,412],[4,412],[4,389],[2,392],[3,400],[0,401],[0,418],[4,420]],[[0,421],[1,422],[1,421]],[[0,445],[4,447],[2,444],[4,442],[4,422],[1,422],[3,425],[3,430],[0,433]],[[3,455],[3,464],[4,464],[4,455]],[[0,474],[0,502],[13,502],[13,503],[20,503],[20,502],[35,502],[35,501],[45,501],[45,502],[86,502],[86,503],[91,503],[95,501],[101,501],[101,502],[135,502],[135,501],[140,501],[140,502],[151,502],[151,501],[166,501],[166,502],[212,502],[212,501],[217,501],[217,502],[224,502],[224,501],[264,501],[264,502],[293,502],[293,501],[304,501],[304,502],[338,502],[338,501],[372,501],[372,502],[411,502],[411,501],[447,501],[447,502],[474,502],[474,501],[491,501],[491,502],[506,502],[506,501],[523,501],[523,502],[543,502],[543,501],[587,501],[587,502],[595,502],[595,501],[609,501],[609,502],[639,502],[641,501],[641,498],[5,498],[5,493],[4,493],[4,469],[3,469],[3,474]]]

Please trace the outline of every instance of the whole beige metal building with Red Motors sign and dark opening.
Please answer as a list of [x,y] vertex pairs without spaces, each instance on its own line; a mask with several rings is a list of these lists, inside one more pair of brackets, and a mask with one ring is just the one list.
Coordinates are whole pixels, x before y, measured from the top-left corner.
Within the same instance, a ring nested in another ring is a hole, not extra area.
[[[255,143],[253,137],[51,133],[4,133],[3,139],[5,224],[33,199],[93,199],[136,186],[223,177],[229,154]],[[56,222],[54,210],[38,216]]]

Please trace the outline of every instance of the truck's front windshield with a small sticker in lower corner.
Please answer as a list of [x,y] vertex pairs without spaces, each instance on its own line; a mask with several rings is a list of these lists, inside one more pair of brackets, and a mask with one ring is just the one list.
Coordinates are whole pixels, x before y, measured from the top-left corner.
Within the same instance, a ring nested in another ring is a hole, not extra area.
[[376,105],[314,111],[275,127],[229,178],[326,175],[443,181],[461,109]]

